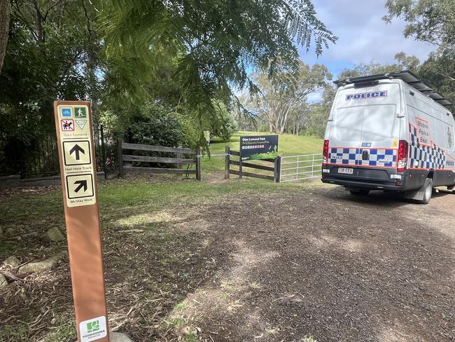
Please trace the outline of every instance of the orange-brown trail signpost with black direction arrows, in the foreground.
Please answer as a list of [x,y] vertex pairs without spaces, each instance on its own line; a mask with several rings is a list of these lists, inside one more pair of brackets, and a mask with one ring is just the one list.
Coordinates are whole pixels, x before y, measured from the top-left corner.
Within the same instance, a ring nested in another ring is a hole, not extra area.
[[78,341],[109,341],[90,102],[55,101]]

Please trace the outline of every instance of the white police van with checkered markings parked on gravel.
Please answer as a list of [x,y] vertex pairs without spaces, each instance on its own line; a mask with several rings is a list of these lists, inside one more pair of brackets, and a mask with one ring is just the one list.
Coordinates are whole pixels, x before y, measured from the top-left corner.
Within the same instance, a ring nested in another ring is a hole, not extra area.
[[451,103],[410,71],[335,81],[322,182],[353,195],[400,191],[419,203],[455,186]]

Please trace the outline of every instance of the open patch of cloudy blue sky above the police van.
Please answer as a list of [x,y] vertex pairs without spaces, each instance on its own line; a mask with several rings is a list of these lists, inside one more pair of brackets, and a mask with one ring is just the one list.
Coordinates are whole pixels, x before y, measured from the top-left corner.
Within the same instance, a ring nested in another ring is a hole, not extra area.
[[381,18],[387,13],[384,0],[313,0],[314,8],[325,26],[339,36],[336,44],[316,57],[314,50],[307,53],[299,48],[300,58],[307,64],[325,64],[336,79],[342,69],[354,64],[393,63],[395,53],[404,51],[421,61],[435,46],[406,39],[402,31],[405,22],[394,19],[386,24]]

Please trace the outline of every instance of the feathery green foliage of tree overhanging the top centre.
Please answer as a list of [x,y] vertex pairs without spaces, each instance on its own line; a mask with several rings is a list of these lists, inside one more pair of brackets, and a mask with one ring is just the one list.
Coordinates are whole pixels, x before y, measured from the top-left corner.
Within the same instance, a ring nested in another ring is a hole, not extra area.
[[[254,67],[273,76],[279,64],[297,71],[293,45],[316,54],[336,36],[316,18],[309,0],[111,1],[104,4],[107,62],[126,86],[124,97],[146,97],[153,61],[165,51],[176,62],[173,81],[203,141],[203,123],[216,120],[212,100],[232,101],[232,88],[258,88],[248,77]],[[123,61],[123,64],[120,63]]]

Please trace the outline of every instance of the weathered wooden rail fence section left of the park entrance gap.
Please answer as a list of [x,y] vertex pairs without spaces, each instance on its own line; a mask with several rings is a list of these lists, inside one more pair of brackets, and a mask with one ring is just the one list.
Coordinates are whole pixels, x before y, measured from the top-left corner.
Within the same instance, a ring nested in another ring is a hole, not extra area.
[[[151,151],[151,152],[165,152],[174,153],[175,158],[160,157],[160,156],[136,156],[134,154],[123,154],[123,150],[130,151]],[[185,155],[190,155],[190,158],[185,158]],[[186,147],[167,147],[167,146],[152,146],[143,144],[129,144],[126,142],[118,142],[118,165],[120,177],[127,173],[166,173],[178,175],[196,175],[198,181],[201,180],[201,158],[200,149],[188,149]],[[146,163],[165,163],[174,164],[173,167],[140,167],[123,165],[125,161],[129,162],[146,162]],[[195,165],[194,169],[190,169]]]

